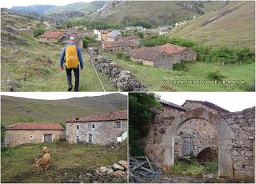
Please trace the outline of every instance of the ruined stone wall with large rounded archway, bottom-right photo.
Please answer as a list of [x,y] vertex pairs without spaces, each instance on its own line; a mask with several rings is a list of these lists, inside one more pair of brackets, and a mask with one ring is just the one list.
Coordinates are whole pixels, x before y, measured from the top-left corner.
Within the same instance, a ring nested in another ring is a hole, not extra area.
[[[198,138],[193,137],[193,133],[195,128],[196,131],[201,130],[200,121],[208,123],[211,126],[210,131],[216,133],[213,134],[214,139],[200,139],[200,144],[195,144],[197,147],[201,146],[200,150],[196,149],[192,154],[204,161],[206,158],[202,157],[202,152],[214,149],[207,153],[212,154],[214,160],[217,150],[219,177],[254,178],[255,107],[229,112],[216,106],[207,106],[202,102],[186,102],[178,108],[164,106],[154,121],[150,122],[150,132],[142,140],[146,155],[157,166],[167,170],[174,165],[174,158],[177,159],[178,154],[181,154],[181,150],[177,150],[179,130],[191,130],[192,140]],[[195,127],[196,123],[199,127]],[[208,129],[206,133],[207,131]],[[214,140],[211,147],[210,139]]]

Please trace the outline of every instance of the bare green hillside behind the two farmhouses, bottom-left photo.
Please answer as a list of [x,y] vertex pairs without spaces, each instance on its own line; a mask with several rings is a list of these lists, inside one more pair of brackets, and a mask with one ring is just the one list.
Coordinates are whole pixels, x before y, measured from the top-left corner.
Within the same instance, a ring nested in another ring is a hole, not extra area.
[[11,96],[1,97],[3,126],[31,118],[42,122],[65,122],[67,118],[99,114],[112,110],[126,110],[127,97],[123,94],[106,94],[96,97],[65,100],[38,100]]

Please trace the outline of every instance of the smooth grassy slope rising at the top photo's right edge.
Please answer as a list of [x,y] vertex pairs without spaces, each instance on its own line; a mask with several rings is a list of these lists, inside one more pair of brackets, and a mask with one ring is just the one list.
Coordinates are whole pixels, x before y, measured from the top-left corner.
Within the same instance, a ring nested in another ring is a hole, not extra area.
[[229,2],[220,10],[178,26],[171,34],[212,46],[248,46],[254,50],[255,2]]

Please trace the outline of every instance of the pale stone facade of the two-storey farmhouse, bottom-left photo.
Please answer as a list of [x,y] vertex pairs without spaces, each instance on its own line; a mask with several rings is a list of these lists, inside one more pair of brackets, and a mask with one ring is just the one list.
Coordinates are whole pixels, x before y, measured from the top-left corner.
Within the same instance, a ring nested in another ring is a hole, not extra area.
[[[121,128],[115,128],[114,122],[121,122]],[[78,129],[77,126],[79,127]],[[78,140],[79,142],[89,142],[89,134],[91,134],[93,144],[106,145],[111,142],[116,142],[117,137],[124,133],[127,127],[126,120],[108,122],[67,122],[66,140],[70,143],[76,143]]]

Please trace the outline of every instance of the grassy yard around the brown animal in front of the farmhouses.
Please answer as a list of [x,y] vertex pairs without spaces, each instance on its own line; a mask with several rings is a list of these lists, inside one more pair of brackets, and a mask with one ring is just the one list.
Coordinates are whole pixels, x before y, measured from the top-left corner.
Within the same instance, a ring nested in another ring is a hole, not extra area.
[[[42,154],[42,147],[50,148],[49,170],[37,170],[34,158]],[[29,146],[17,146],[1,150],[1,182],[69,182],[80,174],[92,174],[100,166],[110,166],[119,160],[127,160],[127,144],[119,148],[85,144],[70,145],[66,142],[50,142]],[[77,180],[74,180],[77,181]],[[82,182],[126,182],[126,179],[94,176]]]

